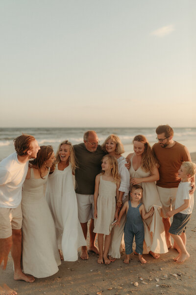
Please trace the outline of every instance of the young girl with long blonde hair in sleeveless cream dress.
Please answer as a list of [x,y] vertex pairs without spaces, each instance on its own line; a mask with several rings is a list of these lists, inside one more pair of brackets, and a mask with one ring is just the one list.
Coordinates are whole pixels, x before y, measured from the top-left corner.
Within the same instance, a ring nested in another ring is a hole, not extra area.
[[[96,176],[95,180],[95,228],[98,233],[98,263],[110,264],[108,251],[111,240],[112,222],[118,218],[118,208],[116,208],[116,198],[119,197],[120,176],[118,174],[118,162],[112,155],[105,155],[101,163],[102,172]],[[103,252],[103,235],[104,252]]]

